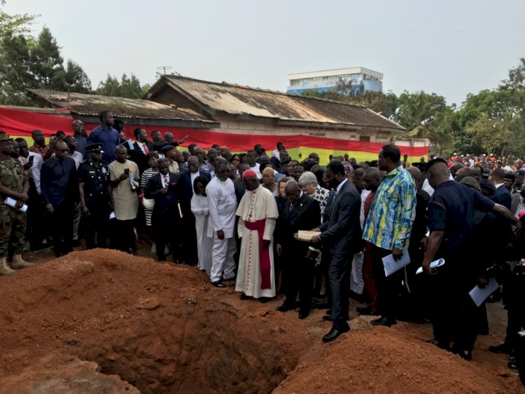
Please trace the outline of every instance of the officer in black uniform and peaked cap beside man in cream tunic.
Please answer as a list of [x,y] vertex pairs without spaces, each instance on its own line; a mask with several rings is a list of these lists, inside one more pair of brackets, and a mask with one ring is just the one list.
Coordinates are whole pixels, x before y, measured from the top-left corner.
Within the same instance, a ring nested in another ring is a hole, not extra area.
[[111,212],[111,184],[108,164],[102,161],[102,144],[85,147],[89,158],[78,167],[78,190],[84,215],[85,245],[87,249],[106,247],[109,214]]

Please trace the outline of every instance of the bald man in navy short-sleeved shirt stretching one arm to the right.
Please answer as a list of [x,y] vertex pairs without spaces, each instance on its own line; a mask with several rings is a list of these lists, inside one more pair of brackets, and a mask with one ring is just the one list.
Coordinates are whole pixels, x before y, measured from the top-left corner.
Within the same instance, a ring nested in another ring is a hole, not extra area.
[[472,348],[477,336],[475,304],[468,292],[477,285],[479,261],[472,259],[473,212],[493,212],[514,224],[521,231],[519,220],[510,210],[482,196],[464,184],[449,180],[447,163],[436,158],[427,164],[427,178],[435,192],[428,203],[428,247],[423,258],[423,272],[431,275],[430,262],[443,258],[445,265],[439,274],[430,277],[429,294],[433,294],[432,343],[449,349],[454,337],[454,348],[465,360],[472,359]]

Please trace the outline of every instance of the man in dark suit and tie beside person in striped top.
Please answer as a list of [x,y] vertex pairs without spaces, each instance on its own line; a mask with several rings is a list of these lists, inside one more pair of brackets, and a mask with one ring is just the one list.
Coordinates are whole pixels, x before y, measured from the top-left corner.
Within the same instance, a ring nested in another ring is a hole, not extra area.
[[[165,246],[172,245],[173,261],[179,262],[179,232],[181,215],[179,212],[179,178],[180,175],[169,172],[169,163],[166,158],[158,161],[159,173],[148,181],[146,198],[154,198],[155,206],[151,215],[151,225],[157,244],[158,261],[165,261]],[[195,227],[194,227],[195,228]]]

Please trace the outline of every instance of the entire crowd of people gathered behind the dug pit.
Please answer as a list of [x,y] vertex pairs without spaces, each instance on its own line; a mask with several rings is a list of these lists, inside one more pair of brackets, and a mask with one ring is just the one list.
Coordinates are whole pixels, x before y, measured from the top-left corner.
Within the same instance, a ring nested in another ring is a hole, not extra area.
[[[71,135],[57,132],[49,144],[34,130],[31,147],[0,133],[2,275],[31,266],[28,249],[52,245],[60,257],[83,239],[87,249],[136,253],[143,237],[158,261],[197,266],[218,288],[234,282],[243,300],[283,293],[277,310],[304,319],[314,298],[325,299],[325,342],[350,330],[354,298],[372,325],[430,319],[429,342],[466,360],[489,330],[484,304],[468,293],[496,278],[503,288],[487,301],[503,295],[508,329],[490,350],[517,347],[523,161],[454,154],[411,163],[391,144],[360,163],[348,154],[297,161],[280,142],[246,154],[179,150],[188,136],[137,128],[132,142],[110,111],[100,121],[88,135],[76,120]],[[387,276],[384,259],[407,255]],[[437,259],[445,263],[433,269]]]

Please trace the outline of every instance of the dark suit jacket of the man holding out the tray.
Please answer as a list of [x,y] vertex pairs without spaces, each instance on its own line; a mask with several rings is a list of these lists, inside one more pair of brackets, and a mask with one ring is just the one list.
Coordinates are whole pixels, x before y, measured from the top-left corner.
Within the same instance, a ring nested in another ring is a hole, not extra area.
[[356,186],[346,181],[334,198],[330,219],[319,227],[321,243],[331,254],[351,254],[361,249],[360,206]]

